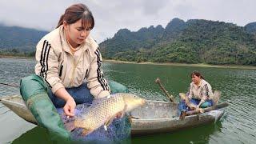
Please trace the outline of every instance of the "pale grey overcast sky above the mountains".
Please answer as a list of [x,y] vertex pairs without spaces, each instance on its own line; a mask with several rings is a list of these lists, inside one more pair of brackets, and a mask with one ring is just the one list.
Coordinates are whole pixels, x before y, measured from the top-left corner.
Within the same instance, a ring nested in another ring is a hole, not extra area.
[[137,31],[173,18],[207,19],[245,26],[256,22],[254,0],[0,0],[0,23],[53,30],[61,14],[74,3],[86,4],[94,14],[93,37],[102,42],[123,28]]

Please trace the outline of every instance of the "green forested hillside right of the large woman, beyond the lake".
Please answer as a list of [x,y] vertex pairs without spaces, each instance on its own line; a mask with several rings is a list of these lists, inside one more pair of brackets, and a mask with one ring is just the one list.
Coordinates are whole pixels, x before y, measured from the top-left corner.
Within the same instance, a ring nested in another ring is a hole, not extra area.
[[103,58],[135,62],[256,65],[256,26],[174,18],[166,28],[118,30],[100,44]]

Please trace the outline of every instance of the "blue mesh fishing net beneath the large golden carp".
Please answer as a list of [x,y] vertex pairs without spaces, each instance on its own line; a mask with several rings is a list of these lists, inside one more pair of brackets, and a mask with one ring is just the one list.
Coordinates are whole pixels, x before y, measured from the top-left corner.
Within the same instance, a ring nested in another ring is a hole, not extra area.
[[[86,113],[89,106],[90,104],[87,103],[76,106],[75,116],[72,118],[67,118],[62,108],[57,110],[58,114],[61,115],[62,122],[65,124],[74,121],[80,114]],[[104,126],[101,126],[92,133],[82,136],[82,128],[75,128],[70,135],[72,140],[78,143],[130,143],[130,130],[129,116],[125,114],[123,118],[114,118],[110,126],[107,126],[107,130],[104,129]]]

